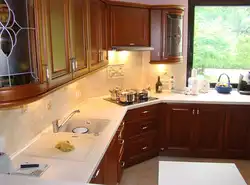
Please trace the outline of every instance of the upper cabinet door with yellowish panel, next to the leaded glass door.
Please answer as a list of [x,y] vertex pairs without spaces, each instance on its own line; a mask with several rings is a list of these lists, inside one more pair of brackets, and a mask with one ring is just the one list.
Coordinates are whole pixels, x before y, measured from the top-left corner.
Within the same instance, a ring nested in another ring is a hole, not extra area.
[[72,80],[69,0],[44,0],[49,88]]

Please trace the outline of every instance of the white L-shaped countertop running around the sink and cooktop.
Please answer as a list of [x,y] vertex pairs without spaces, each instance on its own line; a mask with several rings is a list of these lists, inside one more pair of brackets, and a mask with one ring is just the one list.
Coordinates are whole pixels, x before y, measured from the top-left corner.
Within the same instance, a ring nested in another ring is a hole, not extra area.
[[[99,162],[102,160],[127,110],[158,103],[250,105],[250,96],[240,95],[238,92],[232,92],[230,95],[222,95],[215,91],[211,91],[208,94],[201,94],[198,96],[171,93],[152,94],[151,96],[158,97],[159,99],[126,107],[105,101],[103,100],[104,97],[91,98],[79,104],[76,109],[80,109],[81,113],[79,115],[75,115],[72,118],[72,121],[74,121],[74,119],[85,120],[86,118],[110,120],[109,125],[105,128],[102,134],[96,137],[95,146],[91,150],[88,157],[83,159],[81,162],[45,158],[41,156],[30,156],[27,155],[27,149],[25,152],[14,158],[13,163],[15,166],[24,162],[50,165],[50,168],[41,176],[42,180],[61,180],[88,183],[97,169]],[[51,132],[52,126],[49,133]],[[41,137],[43,137],[43,134],[41,134],[38,139]],[[36,145],[36,142],[33,143],[32,146],[33,145]],[[41,145],[41,143],[39,143],[39,145]],[[44,145],[46,145],[46,143],[44,143]],[[2,178],[3,177],[0,176],[0,181]]]

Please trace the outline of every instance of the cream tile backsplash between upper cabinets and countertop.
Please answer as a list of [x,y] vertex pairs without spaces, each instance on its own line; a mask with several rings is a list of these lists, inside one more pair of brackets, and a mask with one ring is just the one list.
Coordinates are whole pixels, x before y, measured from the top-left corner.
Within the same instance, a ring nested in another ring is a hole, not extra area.
[[111,65],[124,64],[124,78],[108,78],[105,68],[28,104],[26,107],[1,110],[0,136],[6,140],[6,152],[11,155],[22,149],[37,134],[50,126],[53,120],[63,118],[79,102],[87,98],[107,95],[108,90],[115,86],[142,88],[151,84],[154,88],[157,76],[167,70],[169,73],[178,72],[176,86],[177,88],[183,87],[185,75],[178,68],[178,64],[176,71],[173,70],[173,66],[150,65],[150,52],[123,54],[117,52],[111,55]]

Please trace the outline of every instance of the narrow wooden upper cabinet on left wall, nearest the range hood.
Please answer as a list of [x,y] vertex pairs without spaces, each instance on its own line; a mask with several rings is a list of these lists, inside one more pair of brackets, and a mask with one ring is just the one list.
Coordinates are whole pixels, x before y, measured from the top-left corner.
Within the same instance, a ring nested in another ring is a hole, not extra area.
[[107,19],[107,4],[101,0],[90,0],[91,71],[105,66],[108,63]]

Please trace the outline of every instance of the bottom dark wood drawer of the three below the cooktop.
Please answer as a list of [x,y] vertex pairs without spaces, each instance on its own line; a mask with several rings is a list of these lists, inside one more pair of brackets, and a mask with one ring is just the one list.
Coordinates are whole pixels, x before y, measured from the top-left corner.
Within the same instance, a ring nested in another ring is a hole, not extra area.
[[125,158],[129,159],[155,148],[157,148],[157,131],[151,131],[125,143]]

